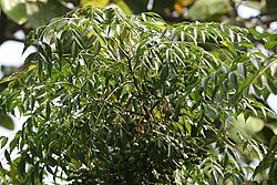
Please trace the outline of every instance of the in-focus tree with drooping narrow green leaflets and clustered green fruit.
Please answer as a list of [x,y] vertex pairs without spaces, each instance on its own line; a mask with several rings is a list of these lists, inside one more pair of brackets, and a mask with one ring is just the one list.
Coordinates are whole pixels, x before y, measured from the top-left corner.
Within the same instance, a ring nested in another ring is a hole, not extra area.
[[2,112],[18,107],[29,119],[4,151],[0,179],[242,184],[269,169],[263,181],[276,183],[276,137],[267,147],[232,122],[275,119],[266,100],[277,93],[277,55],[249,38],[270,39],[120,9],[79,9],[40,27],[25,40],[38,52],[4,79]]

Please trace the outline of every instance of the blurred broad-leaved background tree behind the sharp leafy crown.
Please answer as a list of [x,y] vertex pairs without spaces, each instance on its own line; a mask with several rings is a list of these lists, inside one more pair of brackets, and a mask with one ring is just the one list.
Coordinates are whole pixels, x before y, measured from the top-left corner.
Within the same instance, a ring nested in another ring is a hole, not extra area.
[[[86,6],[117,6],[127,16],[151,10],[157,12],[170,23],[195,20],[220,21],[246,28],[258,27],[259,30],[261,29],[265,32],[276,31],[270,29],[273,28],[270,25],[276,23],[275,0],[0,0],[0,44],[10,40],[23,42],[23,39],[14,33],[23,31],[24,34],[28,34],[32,29],[44,25],[52,18]],[[250,7],[258,13],[254,17],[242,18],[238,14],[238,9],[243,6]],[[270,44],[273,45],[273,43]],[[271,47],[271,52],[276,52],[276,44]],[[18,66],[12,65],[0,66],[3,76],[19,70]],[[0,91],[6,85],[4,83],[0,84]],[[8,115],[1,113],[0,117],[6,120],[1,123],[1,126],[6,129],[14,127]]]

